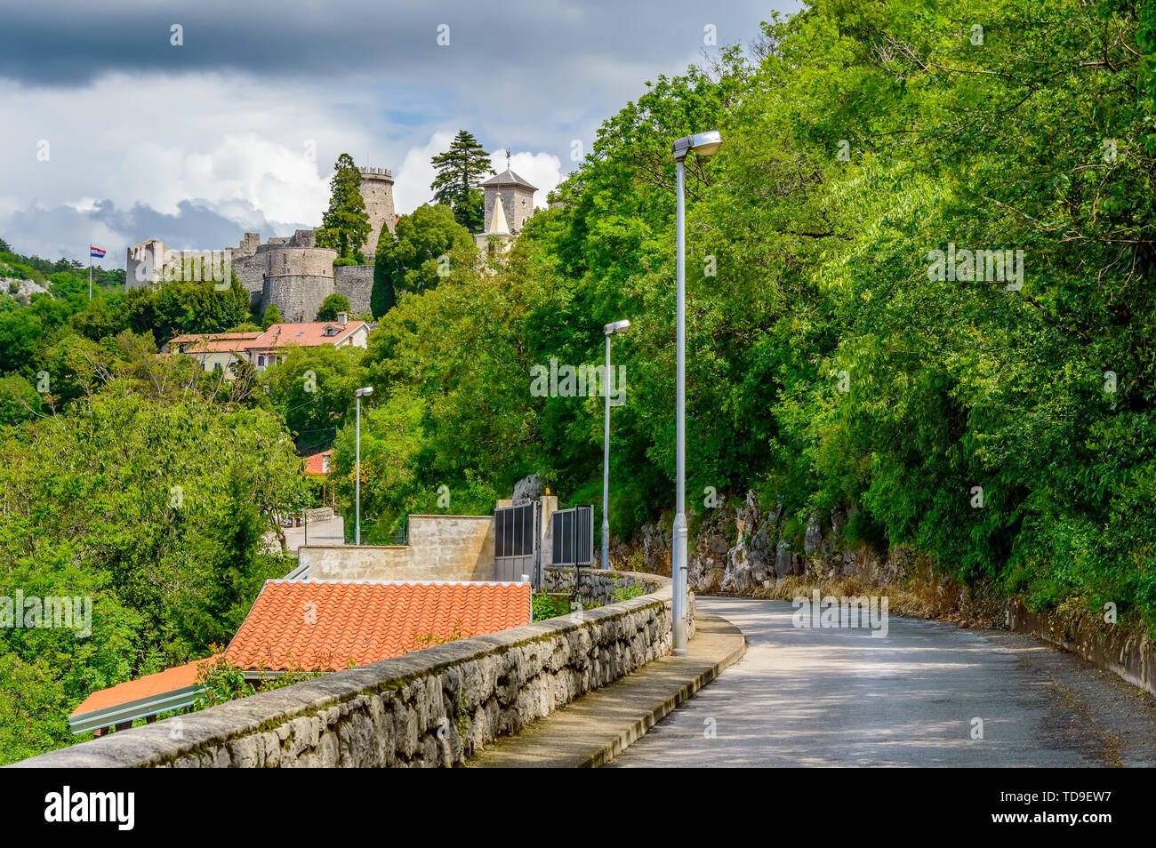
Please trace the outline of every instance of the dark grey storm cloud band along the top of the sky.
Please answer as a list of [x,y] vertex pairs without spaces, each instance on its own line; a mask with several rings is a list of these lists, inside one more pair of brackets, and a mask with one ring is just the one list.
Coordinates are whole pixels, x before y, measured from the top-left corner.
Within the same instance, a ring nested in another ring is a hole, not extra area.
[[[706,23],[720,44],[748,40],[771,5],[62,0],[5,10],[0,76],[74,85],[110,70],[236,69],[415,85],[487,74],[583,75],[599,58],[665,65],[679,44],[690,55]],[[172,24],[184,28],[184,46],[170,44]],[[440,24],[450,27],[449,46],[437,44]]]

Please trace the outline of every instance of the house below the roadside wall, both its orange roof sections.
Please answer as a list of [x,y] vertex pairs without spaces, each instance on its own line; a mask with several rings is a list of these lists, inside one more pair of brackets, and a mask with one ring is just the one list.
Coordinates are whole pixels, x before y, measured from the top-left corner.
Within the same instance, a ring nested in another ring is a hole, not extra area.
[[[340,671],[532,620],[531,585],[268,580],[223,656],[258,683],[287,670]],[[199,667],[217,656],[94,692],[68,716],[103,735],[192,706]]]

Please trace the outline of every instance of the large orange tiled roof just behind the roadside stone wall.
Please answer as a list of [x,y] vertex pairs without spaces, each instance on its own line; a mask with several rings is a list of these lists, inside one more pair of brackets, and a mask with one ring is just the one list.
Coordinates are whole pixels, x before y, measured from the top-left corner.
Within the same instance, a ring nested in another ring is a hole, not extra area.
[[224,656],[334,671],[528,624],[529,583],[269,580]]

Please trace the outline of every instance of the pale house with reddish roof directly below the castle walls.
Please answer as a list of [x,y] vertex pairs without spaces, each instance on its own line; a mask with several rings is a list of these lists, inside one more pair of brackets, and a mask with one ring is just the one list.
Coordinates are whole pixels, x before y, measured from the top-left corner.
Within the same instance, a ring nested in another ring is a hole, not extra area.
[[332,344],[338,348],[364,348],[368,345],[369,325],[350,321],[349,313],[339,312],[336,321],[310,321],[306,323],[274,323],[261,332],[249,333],[186,333],[164,345],[164,352],[184,354],[201,363],[205,371],[221,369],[227,379],[232,379],[232,366],[239,360],[247,362],[258,371],[284,362],[290,345],[319,348]]

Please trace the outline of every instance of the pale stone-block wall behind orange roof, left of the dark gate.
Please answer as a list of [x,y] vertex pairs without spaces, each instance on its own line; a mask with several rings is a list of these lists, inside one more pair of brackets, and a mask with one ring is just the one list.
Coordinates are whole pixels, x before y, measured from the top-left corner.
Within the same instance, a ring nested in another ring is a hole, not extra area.
[[314,580],[494,580],[492,515],[410,515],[408,545],[310,545]]

